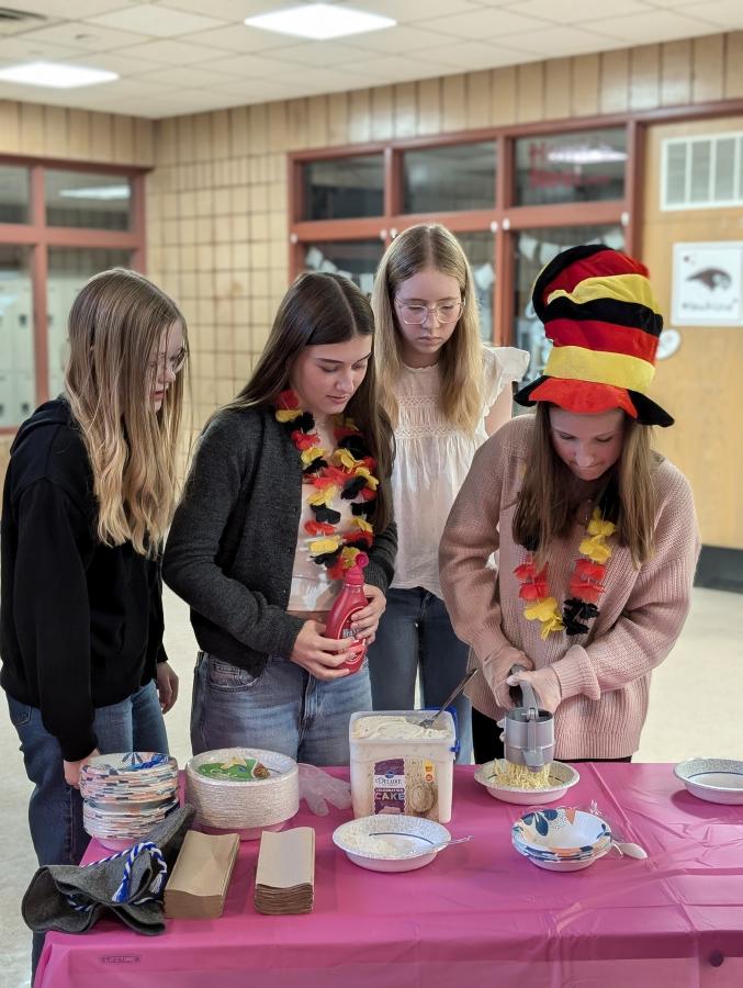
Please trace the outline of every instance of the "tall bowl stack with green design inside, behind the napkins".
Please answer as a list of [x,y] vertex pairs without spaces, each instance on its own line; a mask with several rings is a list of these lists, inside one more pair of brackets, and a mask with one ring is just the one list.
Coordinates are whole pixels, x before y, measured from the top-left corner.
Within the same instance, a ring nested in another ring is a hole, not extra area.
[[296,762],[261,748],[204,751],[185,765],[185,798],[200,830],[256,840],[263,830],[281,830],[299,810]]

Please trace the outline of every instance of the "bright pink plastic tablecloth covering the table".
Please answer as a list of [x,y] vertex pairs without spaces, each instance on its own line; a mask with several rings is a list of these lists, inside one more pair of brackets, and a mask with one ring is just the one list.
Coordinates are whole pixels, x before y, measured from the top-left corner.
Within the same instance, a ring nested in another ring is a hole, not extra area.
[[317,834],[312,914],[255,911],[258,843],[243,843],[221,919],[153,938],[108,921],[52,933],[37,988],[741,988],[743,807],[696,799],[671,765],[578,767],[571,804],[595,799],[648,861],[537,868],[511,847],[521,810],[461,767],[449,829],[475,839],[429,866],[359,868],[330,840],[348,813],[303,810],[294,822]]

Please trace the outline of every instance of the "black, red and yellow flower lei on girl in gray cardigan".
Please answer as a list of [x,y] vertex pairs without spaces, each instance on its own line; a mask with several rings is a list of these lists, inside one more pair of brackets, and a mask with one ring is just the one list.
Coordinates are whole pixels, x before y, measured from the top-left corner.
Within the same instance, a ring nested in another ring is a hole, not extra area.
[[[374,513],[379,486],[379,480],[372,473],[376,463],[369,456],[363,435],[352,418],[336,416],[333,433],[338,447],[328,453],[315,431],[314,416],[300,408],[294,391],[282,391],[275,404],[277,420],[285,427],[299,450],[303,476],[309,479],[314,489],[307,497],[314,520],[304,526],[312,536],[309,554],[317,565],[327,568],[331,580],[342,580],[344,570],[352,566],[357,555],[365,552],[374,540],[369,518]],[[331,507],[338,496],[342,501],[361,498],[351,504],[352,528],[345,534],[336,528],[340,512]]]

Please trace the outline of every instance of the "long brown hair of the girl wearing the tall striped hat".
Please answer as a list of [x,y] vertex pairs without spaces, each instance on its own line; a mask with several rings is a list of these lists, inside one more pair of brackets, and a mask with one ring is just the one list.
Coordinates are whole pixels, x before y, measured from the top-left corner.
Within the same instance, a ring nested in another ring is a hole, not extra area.
[[[514,515],[514,539],[545,562],[553,539],[566,536],[574,521],[575,476],[552,444],[550,403],[538,402],[527,472]],[[651,427],[624,416],[622,451],[607,478],[605,514],[617,525],[620,546],[629,548],[635,566],[654,550],[655,489],[660,457],[651,446]]]

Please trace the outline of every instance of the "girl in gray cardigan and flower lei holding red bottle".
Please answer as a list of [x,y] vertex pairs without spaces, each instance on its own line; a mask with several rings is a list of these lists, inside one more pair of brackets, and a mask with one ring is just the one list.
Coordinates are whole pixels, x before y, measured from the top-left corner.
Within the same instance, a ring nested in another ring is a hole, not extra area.
[[201,648],[194,753],[254,746],[348,762],[348,722],[371,709],[325,616],[363,551],[369,643],[393,575],[392,430],[376,401],[373,316],[345,278],[306,273],[281,303],[247,385],[207,424],[166,548],[166,582]]

